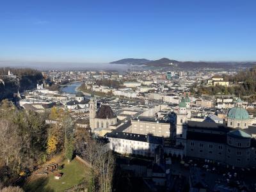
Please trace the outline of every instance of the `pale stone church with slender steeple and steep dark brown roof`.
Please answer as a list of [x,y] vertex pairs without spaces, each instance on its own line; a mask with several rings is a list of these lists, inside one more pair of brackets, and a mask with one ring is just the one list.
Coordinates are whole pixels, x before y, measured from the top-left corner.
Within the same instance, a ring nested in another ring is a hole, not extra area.
[[94,95],[89,104],[90,128],[93,132],[95,129],[108,129],[110,125],[116,124],[117,117],[108,104],[102,104],[97,110],[97,100]]

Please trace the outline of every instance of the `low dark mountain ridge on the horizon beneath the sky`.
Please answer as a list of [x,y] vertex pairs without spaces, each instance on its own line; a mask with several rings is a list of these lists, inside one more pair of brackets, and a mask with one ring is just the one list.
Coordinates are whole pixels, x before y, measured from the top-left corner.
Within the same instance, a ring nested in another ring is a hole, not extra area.
[[214,62],[214,61],[177,61],[168,58],[161,58],[160,60],[145,60],[145,59],[124,59],[111,63],[116,64],[132,64],[132,65],[146,65],[148,67],[170,67],[182,69],[195,68],[248,68],[256,65],[256,62]]

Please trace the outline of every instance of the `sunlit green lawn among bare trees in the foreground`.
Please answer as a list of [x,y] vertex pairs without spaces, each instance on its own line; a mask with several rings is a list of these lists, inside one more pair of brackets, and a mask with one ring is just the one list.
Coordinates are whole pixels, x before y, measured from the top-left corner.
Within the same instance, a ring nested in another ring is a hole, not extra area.
[[[38,177],[28,184],[24,185],[25,191],[64,191],[65,189],[72,188],[77,184],[88,180],[90,177],[90,169],[80,161],[74,159],[69,164],[65,161],[62,170],[61,179],[54,179],[54,174],[50,173],[47,177]],[[57,173],[57,172],[56,172]]]

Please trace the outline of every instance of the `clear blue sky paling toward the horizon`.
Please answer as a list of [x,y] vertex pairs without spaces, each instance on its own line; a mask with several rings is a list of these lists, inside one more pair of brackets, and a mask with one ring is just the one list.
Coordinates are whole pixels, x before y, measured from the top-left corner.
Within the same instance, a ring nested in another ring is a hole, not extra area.
[[0,1],[0,61],[255,61],[256,1]]

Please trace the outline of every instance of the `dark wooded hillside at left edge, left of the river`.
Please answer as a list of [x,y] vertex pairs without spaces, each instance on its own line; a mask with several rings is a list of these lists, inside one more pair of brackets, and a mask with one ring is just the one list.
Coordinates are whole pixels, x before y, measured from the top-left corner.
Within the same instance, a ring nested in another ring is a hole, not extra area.
[[[13,76],[8,76],[8,70]],[[0,100],[12,98],[18,90],[23,92],[36,88],[36,84],[42,83],[43,78],[40,71],[31,68],[0,68],[0,79],[4,81],[4,84],[0,81]]]

